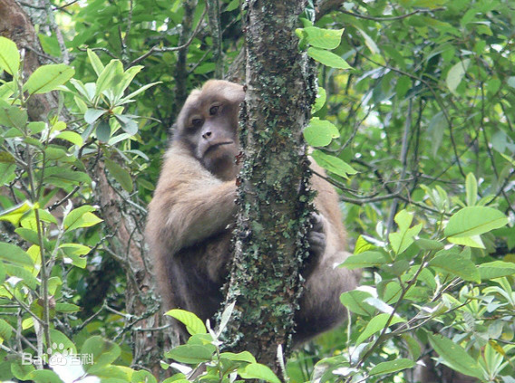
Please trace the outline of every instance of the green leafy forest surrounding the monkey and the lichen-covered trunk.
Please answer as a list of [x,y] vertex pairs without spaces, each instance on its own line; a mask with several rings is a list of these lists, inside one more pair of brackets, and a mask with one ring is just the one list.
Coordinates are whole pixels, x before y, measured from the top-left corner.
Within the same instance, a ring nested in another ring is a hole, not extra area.
[[[304,134],[364,268],[351,320],[276,374],[185,314],[191,343],[165,352],[146,205],[188,92],[245,81],[246,12],[0,0],[0,379],[515,382],[510,0],[306,5]],[[64,351],[93,363],[41,369]]]

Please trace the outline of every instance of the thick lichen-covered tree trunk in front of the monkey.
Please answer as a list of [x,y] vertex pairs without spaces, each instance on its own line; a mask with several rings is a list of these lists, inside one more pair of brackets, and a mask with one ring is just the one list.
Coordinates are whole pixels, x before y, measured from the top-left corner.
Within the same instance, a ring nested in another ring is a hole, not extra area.
[[302,129],[315,97],[315,74],[298,51],[304,1],[248,1],[247,91],[241,145],[238,236],[226,304],[232,348],[275,368],[289,349],[301,290],[311,204]]

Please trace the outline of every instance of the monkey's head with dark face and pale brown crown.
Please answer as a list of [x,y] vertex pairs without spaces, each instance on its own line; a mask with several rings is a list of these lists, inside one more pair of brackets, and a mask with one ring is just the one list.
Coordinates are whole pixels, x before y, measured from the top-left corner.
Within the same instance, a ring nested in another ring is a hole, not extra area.
[[210,80],[189,94],[177,119],[174,141],[185,144],[193,157],[222,179],[231,179],[238,171],[238,112],[244,99],[241,85]]

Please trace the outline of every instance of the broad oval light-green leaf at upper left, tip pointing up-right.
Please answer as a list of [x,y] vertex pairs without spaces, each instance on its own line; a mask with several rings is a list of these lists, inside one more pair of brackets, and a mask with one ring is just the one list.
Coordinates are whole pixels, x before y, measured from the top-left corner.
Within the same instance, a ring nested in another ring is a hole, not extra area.
[[36,69],[24,84],[24,91],[30,94],[54,91],[75,74],[75,70],[66,64],[43,65]]

